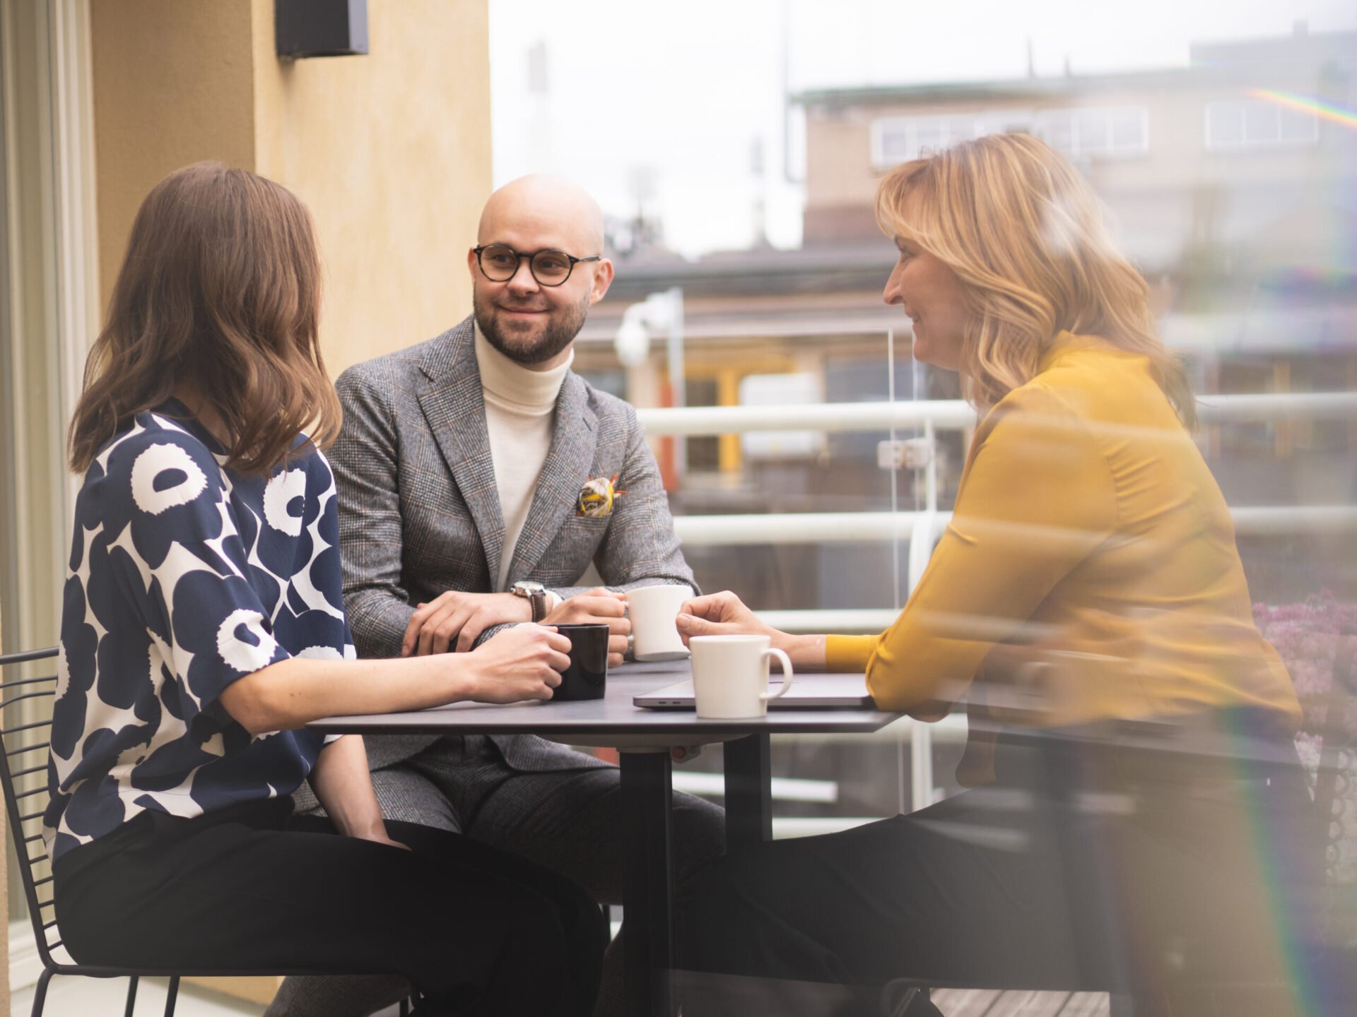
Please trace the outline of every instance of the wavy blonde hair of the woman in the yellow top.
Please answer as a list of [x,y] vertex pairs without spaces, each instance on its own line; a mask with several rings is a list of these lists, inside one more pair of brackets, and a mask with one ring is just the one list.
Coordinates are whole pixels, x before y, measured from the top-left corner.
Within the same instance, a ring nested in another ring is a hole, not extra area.
[[1092,188],[1044,141],[989,134],[901,163],[877,188],[877,222],[957,274],[972,312],[962,391],[977,407],[1030,381],[1056,334],[1069,331],[1147,357],[1178,418],[1196,427],[1149,287],[1113,244]]

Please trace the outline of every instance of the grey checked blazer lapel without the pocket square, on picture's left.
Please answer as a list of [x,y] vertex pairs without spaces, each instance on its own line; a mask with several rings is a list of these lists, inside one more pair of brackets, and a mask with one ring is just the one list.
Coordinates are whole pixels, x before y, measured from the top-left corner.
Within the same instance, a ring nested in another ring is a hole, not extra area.
[[419,407],[476,523],[490,582],[494,582],[499,575],[505,522],[495,487],[495,464],[490,456],[490,435],[486,433],[486,405],[471,321],[468,317],[448,332],[446,342],[436,344],[436,353],[419,365],[429,378],[419,392]]

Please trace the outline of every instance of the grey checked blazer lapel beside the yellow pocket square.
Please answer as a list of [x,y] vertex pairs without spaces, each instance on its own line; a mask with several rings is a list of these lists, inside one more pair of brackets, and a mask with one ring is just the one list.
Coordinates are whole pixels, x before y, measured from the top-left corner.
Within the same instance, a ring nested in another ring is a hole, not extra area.
[[514,546],[509,579],[527,579],[575,510],[597,446],[598,418],[589,408],[584,380],[570,372],[556,396],[556,423],[541,464],[537,490]]

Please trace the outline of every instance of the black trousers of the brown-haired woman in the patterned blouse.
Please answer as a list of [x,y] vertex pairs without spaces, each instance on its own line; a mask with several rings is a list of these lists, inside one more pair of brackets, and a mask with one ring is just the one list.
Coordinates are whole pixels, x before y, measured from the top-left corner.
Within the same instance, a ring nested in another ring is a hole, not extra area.
[[142,812],[54,865],[88,964],[406,975],[430,1014],[590,1014],[608,932],[582,887],[457,834],[413,850],[292,816],[290,799]]

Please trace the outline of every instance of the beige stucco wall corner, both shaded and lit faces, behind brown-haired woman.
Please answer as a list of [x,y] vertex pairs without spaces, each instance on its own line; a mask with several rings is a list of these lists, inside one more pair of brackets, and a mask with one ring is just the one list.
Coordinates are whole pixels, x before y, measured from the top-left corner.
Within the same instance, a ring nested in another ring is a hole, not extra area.
[[92,8],[104,301],[147,191],[221,159],[311,207],[331,374],[470,312],[491,179],[486,0],[369,0],[368,56],[294,62],[274,54],[273,0]]

